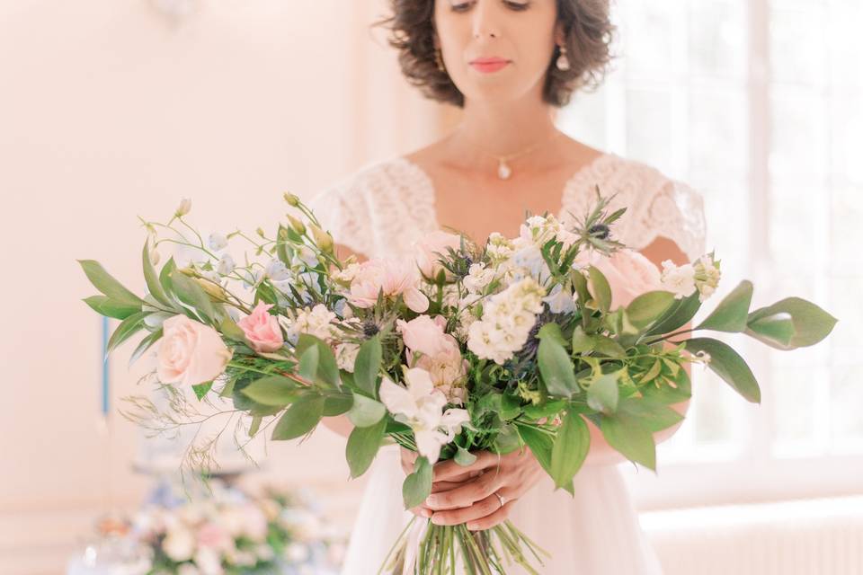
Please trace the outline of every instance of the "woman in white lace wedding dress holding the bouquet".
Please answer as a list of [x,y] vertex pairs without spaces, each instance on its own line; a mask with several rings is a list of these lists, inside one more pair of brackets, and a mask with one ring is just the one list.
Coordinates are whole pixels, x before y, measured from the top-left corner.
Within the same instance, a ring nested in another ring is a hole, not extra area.
[[[585,213],[596,185],[603,195],[617,192],[609,210],[627,207],[614,234],[657,266],[704,251],[695,190],[555,127],[554,111],[596,84],[609,62],[609,0],[393,0],[392,10],[384,23],[405,76],[428,97],[461,108],[462,121],[431,146],[370,164],[312,199],[342,258],[410,257],[422,234],[442,226],[481,244],[493,231],[512,237],[525,210],[572,222],[570,212]],[[672,407],[685,413],[688,403]],[[344,417],[325,424],[344,436],[351,430]],[[555,491],[525,448],[478,454],[467,468],[437,464],[432,496],[405,511],[401,484],[413,454],[382,447],[343,574],[378,572],[411,513],[470,529],[510,518],[551,553],[539,568],[546,575],[661,573],[618,471],[625,458],[588,425],[591,450],[574,497]],[[676,429],[655,434],[656,442]]]

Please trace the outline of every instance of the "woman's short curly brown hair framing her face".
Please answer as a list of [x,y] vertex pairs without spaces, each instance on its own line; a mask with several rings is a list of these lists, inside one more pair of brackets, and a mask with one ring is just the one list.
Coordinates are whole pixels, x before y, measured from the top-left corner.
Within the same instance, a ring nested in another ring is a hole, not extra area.
[[[387,41],[398,50],[398,62],[408,82],[428,98],[459,108],[465,96],[438,69],[434,49],[435,0],[390,0],[392,15],[375,22],[389,31]],[[542,99],[562,107],[577,90],[595,90],[602,84],[614,57],[610,45],[617,30],[609,19],[609,0],[556,0],[557,22],[563,24],[569,70],[555,65],[560,49],[548,62]]]

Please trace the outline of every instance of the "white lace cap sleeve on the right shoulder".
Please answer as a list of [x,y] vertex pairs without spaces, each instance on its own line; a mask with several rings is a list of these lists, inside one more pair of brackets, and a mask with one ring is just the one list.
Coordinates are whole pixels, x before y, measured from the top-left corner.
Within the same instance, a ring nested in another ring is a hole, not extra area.
[[630,245],[644,248],[662,235],[677,243],[690,261],[704,253],[707,222],[704,199],[697,190],[663,178],[639,203],[638,217],[629,230]]

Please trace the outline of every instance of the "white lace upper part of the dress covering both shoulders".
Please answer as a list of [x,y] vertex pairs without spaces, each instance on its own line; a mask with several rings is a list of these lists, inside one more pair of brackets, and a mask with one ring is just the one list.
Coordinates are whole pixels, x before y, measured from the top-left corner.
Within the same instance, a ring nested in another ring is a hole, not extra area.
[[[598,156],[566,181],[564,224],[583,217],[596,199],[618,192],[609,213],[626,207],[614,233],[628,247],[642,249],[662,235],[680,246],[690,261],[705,251],[704,202],[688,184],[615,154]],[[321,224],[353,252],[366,257],[402,256],[423,234],[440,228],[432,180],[417,164],[397,156],[369,164],[309,201]]]

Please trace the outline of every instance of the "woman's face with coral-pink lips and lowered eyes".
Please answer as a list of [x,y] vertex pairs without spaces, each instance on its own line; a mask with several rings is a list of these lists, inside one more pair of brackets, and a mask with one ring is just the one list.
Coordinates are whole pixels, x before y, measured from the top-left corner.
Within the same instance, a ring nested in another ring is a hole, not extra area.
[[[510,101],[545,80],[556,40],[556,0],[435,0],[449,77],[466,100]],[[538,85],[539,84],[539,85]]]

